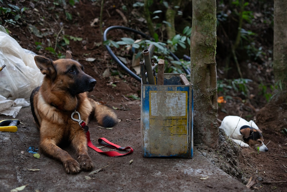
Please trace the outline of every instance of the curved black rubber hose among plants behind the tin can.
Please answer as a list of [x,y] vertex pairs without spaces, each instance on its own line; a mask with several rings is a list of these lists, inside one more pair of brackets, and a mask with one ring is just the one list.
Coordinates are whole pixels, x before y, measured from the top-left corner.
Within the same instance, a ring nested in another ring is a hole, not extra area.
[[[107,40],[107,33],[113,29],[122,29],[125,31],[131,31],[133,33],[139,34],[144,38],[150,39],[150,40],[154,40],[152,37],[146,35],[145,33],[142,33],[140,31],[134,30],[132,28],[129,27],[125,27],[125,26],[110,26],[108,28],[106,28],[106,30],[104,31],[104,35],[103,35],[103,41]],[[133,73],[133,71],[131,71],[127,66],[125,66],[125,64],[123,64],[123,62],[121,62],[121,60],[119,60],[119,58],[114,54],[114,52],[112,51],[112,49],[110,48],[109,45],[105,45],[106,49],[108,50],[108,53],[112,56],[112,58],[119,64],[119,66],[121,66],[129,75],[131,75],[133,78],[135,78],[137,81],[141,81],[141,78],[139,76],[137,76],[135,73]],[[169,52],[170,55],[172,56],[172,58],[174,60],[180,61],[179,58],[177,58],[177,56],[175,56],[172,52]],[[186,74],[190,74],[190,70],[189,69],[185,69],[182,66],[183,70],[185,71]]]

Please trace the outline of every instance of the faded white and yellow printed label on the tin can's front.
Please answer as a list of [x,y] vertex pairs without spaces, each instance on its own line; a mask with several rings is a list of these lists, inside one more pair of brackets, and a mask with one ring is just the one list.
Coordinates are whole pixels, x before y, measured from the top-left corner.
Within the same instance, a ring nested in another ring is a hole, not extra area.
[[[188,133],[188,92],[150,91],[150,150],[151,153],[170,155],[186,153]],[[160,142],[168,142],[159,147]]]

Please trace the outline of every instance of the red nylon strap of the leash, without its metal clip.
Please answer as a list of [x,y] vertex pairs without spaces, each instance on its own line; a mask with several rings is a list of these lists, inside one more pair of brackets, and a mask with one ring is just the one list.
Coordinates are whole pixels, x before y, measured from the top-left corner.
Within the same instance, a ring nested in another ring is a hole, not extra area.
[[86,137],[87,137],[87,140],[88,140],[88,147],[94,149],[95,151],[99,152],[99,153],[104,153],[105,155],[108,155],[109,157],[118,157],[118,156],[123,156],[123,155],[128,155],[130,153],[133,153],[133,148],[131,147],[121,147],[119,145],[116,145],[110,141],[108,141],[106,138],[99,138],[98,139],[98,142],[100,145],[104,145],[104,146],[107,146],[107,147],[111,147],[111,148],[114,148],[114,149],[119,149],[120,151],[125,151],[127,149],[130,149],[129,152],[127,153],[119,153],[117,151],[102,151],[100,150],[98,147],[94,146],[90,140],[90,132],[86,132]]

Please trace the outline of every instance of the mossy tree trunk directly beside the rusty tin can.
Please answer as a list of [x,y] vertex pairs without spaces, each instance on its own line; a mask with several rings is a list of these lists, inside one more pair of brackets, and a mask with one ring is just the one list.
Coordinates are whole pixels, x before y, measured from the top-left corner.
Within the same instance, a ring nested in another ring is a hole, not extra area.
[[218,147],[216,0],[192,1],[190,38],[191,83],[194,95],[194,143]]

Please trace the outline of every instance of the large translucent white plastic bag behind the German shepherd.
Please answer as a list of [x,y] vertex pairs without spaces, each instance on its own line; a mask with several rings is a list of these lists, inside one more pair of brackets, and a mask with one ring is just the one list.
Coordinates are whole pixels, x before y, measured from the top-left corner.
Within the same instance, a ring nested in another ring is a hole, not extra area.
[[28,102],[32,90],[42,84],[43,75],[35,64],[36,54],[22,48],[0,25],[0,94],[14,100],[24,98]]

